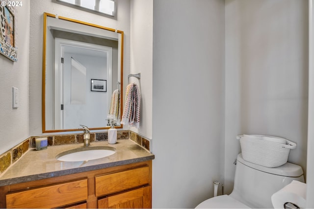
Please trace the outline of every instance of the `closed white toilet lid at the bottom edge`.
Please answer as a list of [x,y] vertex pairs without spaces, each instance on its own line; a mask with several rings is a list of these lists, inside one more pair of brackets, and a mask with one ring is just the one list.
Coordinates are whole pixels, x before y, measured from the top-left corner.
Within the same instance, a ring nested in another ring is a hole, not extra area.
[[200,203],[196,206],[196,209],[249,209],[248,206],[243,203],[237,201],[236,199],[230,197],[229,195],[220,195],[204,202]]

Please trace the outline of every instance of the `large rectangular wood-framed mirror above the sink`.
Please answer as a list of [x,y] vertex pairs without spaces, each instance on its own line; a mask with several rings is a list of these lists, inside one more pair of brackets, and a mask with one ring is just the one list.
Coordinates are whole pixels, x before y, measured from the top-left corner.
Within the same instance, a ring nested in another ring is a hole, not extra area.
[[[43,133],[109,128],[112,92],[120,90],[123,31],[44,14]],[[120,95],[120,112],[122,108]],[[121,128],[120,118],[114,121]]]

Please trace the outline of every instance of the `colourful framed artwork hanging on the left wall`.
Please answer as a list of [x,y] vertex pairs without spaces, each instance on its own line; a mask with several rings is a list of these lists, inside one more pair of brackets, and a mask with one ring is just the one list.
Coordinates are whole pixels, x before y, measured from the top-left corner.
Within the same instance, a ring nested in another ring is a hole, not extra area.
[[0,6],[0,53],[10,60],[17,62],[14,15],[9,7],[2,6],[4,5],[2,2]]

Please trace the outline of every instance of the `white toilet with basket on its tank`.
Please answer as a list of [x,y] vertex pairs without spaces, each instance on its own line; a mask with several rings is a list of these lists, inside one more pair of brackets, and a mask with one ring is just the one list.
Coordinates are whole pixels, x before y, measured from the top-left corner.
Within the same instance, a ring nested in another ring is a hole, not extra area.
[[302,167],[286,163],[269,168],[244,161],[238,154],[235,166],[234,189],[200,203],[196,208],[273,208],[271,195],[292,180],[304,182]]

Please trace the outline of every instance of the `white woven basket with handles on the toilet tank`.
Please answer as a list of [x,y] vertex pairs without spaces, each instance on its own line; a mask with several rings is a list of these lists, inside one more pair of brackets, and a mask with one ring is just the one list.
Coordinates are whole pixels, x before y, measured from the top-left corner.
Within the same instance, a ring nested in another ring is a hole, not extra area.
[[243,159],[265,167],[278,167],[287,163],[290,149],[294,149],[296,143],[284,139],[286,144],[283,144],[264,140],[262,137],[283,139],[265,135],[237,136],[236,139],[240,141]]

